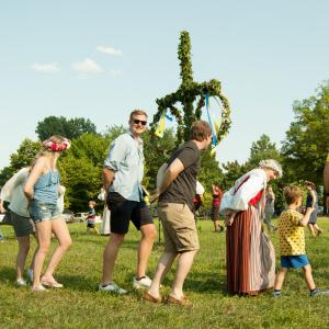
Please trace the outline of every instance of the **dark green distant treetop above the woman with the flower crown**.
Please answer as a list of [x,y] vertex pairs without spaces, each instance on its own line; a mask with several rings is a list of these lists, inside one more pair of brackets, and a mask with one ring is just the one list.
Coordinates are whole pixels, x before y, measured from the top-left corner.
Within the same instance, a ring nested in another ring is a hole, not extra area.
[[52,115],[37,123],[35,133],[41,140],[45,140],[53,135],[60,135],[73,139],[84,133],[97,134],[97,128],[89,118],[75,117],[67,120],[64,116]]

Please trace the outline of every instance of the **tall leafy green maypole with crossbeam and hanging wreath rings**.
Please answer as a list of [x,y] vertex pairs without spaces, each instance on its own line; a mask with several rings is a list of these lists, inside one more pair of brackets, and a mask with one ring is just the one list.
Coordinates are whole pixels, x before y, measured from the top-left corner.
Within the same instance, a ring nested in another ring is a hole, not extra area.
[[[231,124],[228,100],[222,93],[220,81],[215,79],[202,83],[193,81],[191,41],[186,31],[181,32],[178,57],[182,83],[175,92],[156,100],[158,111],[154,116],[151,128],[155,131],[163,113],[169,110],[178,123],[177,144],[189,140],[191,126],[195,121],[200,120],[206,97],[217,97],[223,107],[222,121],[216,134],[217,140],[220,141],[228,133]],[[179,103],[181,104],[180,106],[178,105]],[[179,107],[183,110],[181,111]]]

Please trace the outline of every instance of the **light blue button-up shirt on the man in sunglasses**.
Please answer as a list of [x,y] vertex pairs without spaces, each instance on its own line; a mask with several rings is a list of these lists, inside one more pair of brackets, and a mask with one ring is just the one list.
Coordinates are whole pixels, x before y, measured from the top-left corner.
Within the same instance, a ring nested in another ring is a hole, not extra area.
[[144,174],[143,143],[126,133],[114,139],[110,146],[104,166],[115,172],[109,192],[117,192],[131,201],[141,200]]

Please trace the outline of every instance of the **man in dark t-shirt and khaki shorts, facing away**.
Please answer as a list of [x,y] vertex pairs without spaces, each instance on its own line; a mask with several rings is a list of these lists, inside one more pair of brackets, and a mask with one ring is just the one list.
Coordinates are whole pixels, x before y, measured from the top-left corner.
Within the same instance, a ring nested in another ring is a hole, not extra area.
[[[161,303],[160,285],[172,263],[178,259],[175,275],[168,295],[168,303],[189,305],[183,284],[200,249],[194,219],[193,197],[196,194],[196,175],[200,171],[201,150],[212,143],[208,123],[197,121],[191,128],[191,140],[180,146],[166,167],[162,181],[150,201],[159,197],[158,215],[164,235],[164,251],[160,257],[151,286],[144,299]],[[161,167],[162,168],[162,167]]]

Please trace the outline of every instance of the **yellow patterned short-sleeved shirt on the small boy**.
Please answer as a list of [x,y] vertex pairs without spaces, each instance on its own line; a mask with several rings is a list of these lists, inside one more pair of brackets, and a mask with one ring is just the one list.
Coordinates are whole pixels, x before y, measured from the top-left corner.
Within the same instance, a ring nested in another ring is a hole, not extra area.
[[304,227],[298,225],[303,217],[293,209],[281,213],[279,222],[281,256],[305,254]]

